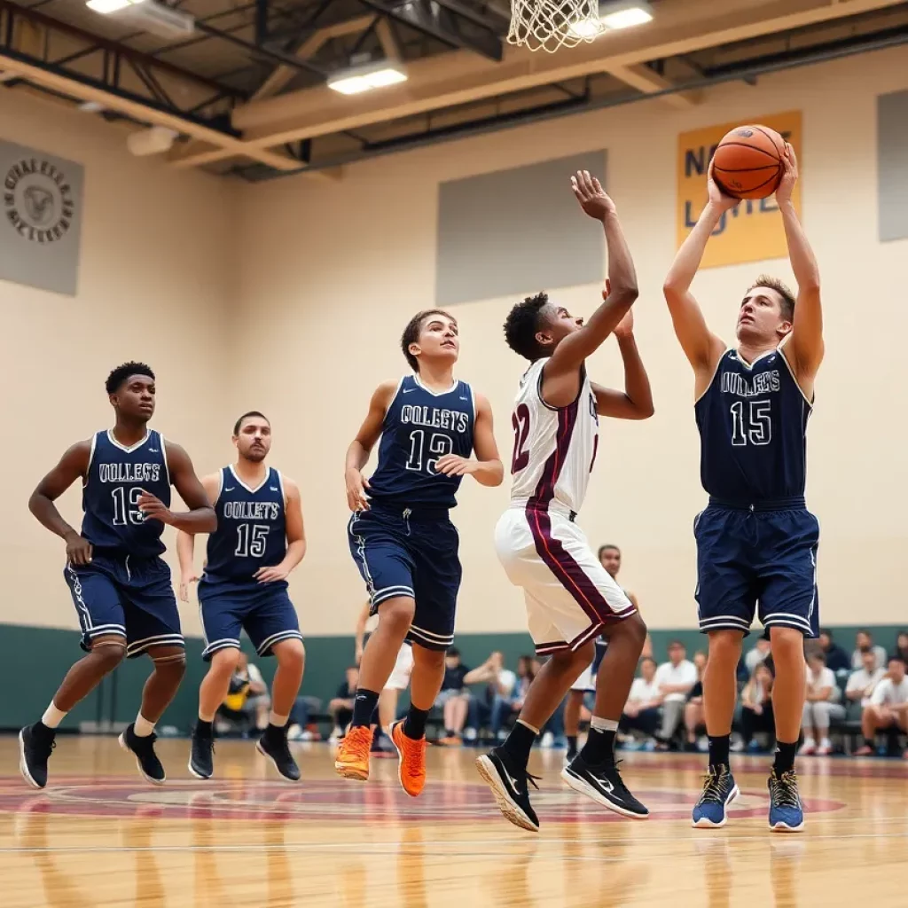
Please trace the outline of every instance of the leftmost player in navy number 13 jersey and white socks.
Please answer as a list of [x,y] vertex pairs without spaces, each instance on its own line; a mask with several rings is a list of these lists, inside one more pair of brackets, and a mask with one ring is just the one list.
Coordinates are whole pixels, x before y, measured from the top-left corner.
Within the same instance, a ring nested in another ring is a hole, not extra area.
[[[161,558],[161,534],[164,524],[193,532],[209,532],[216,524],[186,452],[148,428],[154,415],[153,371],[141,362],[124,363],[111,372],[106,390],[116,414],[114,428],[67,450],[28,502],[35,517],[66,543],[64,577],[88,653],[69,670],[41,720],[19,733],[20,769],[37,788],[47,784],[47,760],[64,716],[123,656],[145,653],[153,672],[139,715],[120,735],[120,745],[133,752],[147,781],[163,784],[154,725],[180,686],[186,657],[170,568]],[[81,533],[54,505],[77,480],[83,488]],[[170,509],[172,485],[188,512]]]

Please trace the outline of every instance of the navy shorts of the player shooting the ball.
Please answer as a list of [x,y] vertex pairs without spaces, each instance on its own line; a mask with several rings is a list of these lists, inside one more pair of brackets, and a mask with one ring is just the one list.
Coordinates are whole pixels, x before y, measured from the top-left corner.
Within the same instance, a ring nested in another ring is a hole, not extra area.
[[764,627],[819,634],[816,551],[820,525],[804,507],[711,504],[694,521],[700,630]]

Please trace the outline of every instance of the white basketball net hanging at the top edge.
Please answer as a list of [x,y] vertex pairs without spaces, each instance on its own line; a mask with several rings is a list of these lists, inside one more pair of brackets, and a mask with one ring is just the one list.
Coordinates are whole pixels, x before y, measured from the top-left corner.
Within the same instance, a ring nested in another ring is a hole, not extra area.
[[511,0],[508,44],[551,54],[594,41],[601,32],[599,0]]

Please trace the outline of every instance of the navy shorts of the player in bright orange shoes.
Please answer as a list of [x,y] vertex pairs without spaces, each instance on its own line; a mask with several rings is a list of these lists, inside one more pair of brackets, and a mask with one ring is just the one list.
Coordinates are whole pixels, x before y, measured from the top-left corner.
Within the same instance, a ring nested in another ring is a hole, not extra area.
[[416,612],[407,638],[426,649],[447,649],[454,642],[462,575],[458,531],[447,510],[391,510],[373,504],[350,518],[347,535],[372,614],[389,599],[411,597]]

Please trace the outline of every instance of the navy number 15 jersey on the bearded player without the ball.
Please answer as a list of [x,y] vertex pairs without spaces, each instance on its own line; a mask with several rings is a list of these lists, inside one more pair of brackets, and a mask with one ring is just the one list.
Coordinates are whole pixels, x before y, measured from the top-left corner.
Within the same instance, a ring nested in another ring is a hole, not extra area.
[[249,580],[287,554],[287,523],[281,474],[273,467],[257,489],[233,472],[221,470],[221,491],[214,504],[218,528],[208,537],[205,578]]

